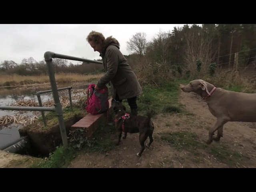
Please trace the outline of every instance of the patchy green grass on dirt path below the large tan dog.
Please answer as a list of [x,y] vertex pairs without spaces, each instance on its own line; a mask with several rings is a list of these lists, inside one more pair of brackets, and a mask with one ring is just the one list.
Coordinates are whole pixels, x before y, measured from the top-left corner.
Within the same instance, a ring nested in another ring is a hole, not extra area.
[[[189,131],[180,132],[168,132],[160,136],[160,139],[168,142],[176,150],[188,150],[198,156],[198,150],[204,149],[209,154],[212,154],[217,160],[224,162],[230,166],[233,166],[237,160],[242,158],[242,155],[238,152],[232,151],[225,144],[219,146],[207,145],[198,140],[198,136]],[[198,161],[198,158],[194,158]]]

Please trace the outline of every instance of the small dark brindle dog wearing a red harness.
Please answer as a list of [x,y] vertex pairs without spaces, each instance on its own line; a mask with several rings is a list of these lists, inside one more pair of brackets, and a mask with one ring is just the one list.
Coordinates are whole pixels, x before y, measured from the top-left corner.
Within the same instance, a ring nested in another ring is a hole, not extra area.
[[123,106],[120,102],[113,102],[113,110],[115,116],[115,126],[118,134],[118,141],[116,145],[119,145],[121,141],[122,132],[124,132],[123,139],[126,138],[127,133],[140,133],[140,152],[137,153],[137,156],[141,156],[142,152],[145,149],[144,143],[149,137],[149,143],[146,144],[147,147],[153,142],[152,134],[154,131],[154,124],[151,121],[151,115],[148,117],[144,116],[135,116],[126,114],[126,107]]

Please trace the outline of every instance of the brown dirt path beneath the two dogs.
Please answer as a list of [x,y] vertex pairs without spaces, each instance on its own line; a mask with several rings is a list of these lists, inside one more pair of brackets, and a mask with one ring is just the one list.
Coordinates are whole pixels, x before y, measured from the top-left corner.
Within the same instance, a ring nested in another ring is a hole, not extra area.
[[[80,154],[70,168],[252,168],[256,167],[256,125],[228,122],[220,142],[205,144],[208,129],[215,117],[207,104],[194,93],[181,92],[180,103],[186,113],[158,114],[154,117],[154,142],[141,157],[138,134],[128,134],[126,140],[108,154]],[[170,132],[177,133],[169,134]],[[172,136],[171,142],[161,137]],[[147,141],[148,142],[148,139]]]

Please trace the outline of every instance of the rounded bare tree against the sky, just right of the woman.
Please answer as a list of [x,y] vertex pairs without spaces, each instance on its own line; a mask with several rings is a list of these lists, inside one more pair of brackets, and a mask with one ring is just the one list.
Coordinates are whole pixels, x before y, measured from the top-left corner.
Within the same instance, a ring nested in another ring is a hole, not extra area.
[[147,46],[146,33],[138,32],[126,43],[127,50],[137,53],[138,55],[145,55]]

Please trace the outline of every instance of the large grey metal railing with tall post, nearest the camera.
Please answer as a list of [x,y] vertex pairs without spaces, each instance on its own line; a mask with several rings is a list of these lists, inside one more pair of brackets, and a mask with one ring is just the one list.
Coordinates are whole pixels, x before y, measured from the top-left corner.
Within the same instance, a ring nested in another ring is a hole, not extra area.
[[79,58],[79,57],[68,56],[68,55],[62,55],[62,54],[57,54],[54,52],[47,51],[44,53],[44,60],[46,61],[46,65],[48,67],[48,74],[49,74],[50,83],[51,83],[51,87],[52,87],[51,92],[53,94],[53,99],[54,99],[54,107],[0,106],[0,110],[56,112],[57,116],[58,116],[59,126],[60,126],[60,134],[61,134],[61,138],[62,138],[62,143],[63,143],[64,148],[66,148],[68,146],[68,138],[67,138],[67,134],[66,134],[66,127],[65,127],[64,118],[63,118],[62,106],[60,104],[60,98],[58,95],[58,89],[57,89],[55,75],[54,75],[55,72],[54,72],[54,66],[52,64],[52,58],[60,58],[60,59],[90,62],[90,63],[95,63],[95,64],[102,64],[102,62],[100,62],[100,61],[89,60],[89,59],[84,59],[84,58]]

